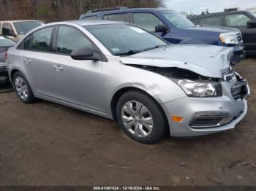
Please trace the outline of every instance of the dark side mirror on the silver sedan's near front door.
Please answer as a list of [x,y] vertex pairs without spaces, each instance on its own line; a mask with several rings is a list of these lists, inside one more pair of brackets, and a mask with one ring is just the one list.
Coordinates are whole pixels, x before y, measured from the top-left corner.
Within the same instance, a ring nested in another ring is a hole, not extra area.
[[101,56],[99,55],[98,52],[95,52],[92,50],[90,47],[82,47],[78,48],[77,50],[74,50],[70,54],[71,58],[74,60],[80,60],[80,61],[100,61]]

